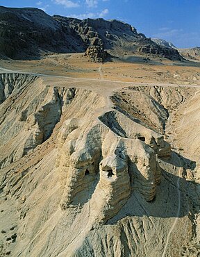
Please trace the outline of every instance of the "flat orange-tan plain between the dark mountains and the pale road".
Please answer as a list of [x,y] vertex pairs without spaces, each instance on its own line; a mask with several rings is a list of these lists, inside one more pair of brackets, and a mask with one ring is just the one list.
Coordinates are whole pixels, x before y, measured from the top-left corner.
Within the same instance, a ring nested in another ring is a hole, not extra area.
[[154,56],[123,56],[93,63],[83,53],[47,54],[39,60],[0,60],[1,67],[18,72],[95,78],[135,83],[199,84],[199,63]]

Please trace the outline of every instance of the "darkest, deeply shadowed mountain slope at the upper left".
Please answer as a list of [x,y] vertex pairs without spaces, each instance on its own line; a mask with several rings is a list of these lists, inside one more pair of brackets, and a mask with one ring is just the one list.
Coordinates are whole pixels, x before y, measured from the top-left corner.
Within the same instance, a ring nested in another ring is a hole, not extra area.
[[84,51],[73,33],[37,8],[0,6],[1,54],[24,59],[40,56],[43,51]]

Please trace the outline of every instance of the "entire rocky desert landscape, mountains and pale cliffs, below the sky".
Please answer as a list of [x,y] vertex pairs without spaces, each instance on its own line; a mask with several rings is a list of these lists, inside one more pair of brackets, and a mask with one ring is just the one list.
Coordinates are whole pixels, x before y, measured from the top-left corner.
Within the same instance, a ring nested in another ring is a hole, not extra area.
[[200,256],[198,58],[117,20],[0,18],[0,256]]

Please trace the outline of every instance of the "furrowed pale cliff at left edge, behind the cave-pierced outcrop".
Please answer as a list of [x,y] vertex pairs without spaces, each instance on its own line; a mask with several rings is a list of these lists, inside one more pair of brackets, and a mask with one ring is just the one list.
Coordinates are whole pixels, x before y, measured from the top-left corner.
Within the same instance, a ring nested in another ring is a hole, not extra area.
[[75,90],[49,88],[26,74],[1,74],[0,79],[1,150],[10,144],[0,162],[5,167],[49,138]]

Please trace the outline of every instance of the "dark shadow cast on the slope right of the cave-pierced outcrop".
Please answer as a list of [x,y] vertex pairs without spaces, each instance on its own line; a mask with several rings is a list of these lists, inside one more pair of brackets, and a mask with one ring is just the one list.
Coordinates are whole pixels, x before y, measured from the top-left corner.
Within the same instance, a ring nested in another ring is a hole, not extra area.
[[[172,165],[174,174],[167,172],[167,169],[162,169],[161,182],[157,185],[156,197],[153,201],[145,201],[138,190],[133,190],[125,206],[115,217],[108,220],[107,224],[116,224],[124,217],[169,218],[184,217],[189,213],[199,212],[197,187],[200,185],[184,178],[187,175],[187,169],[194,170],[196,163],[174,152],[170,160],[160,160],[160,162],[162,167]],[[182,166],[178,163],[182,163]],[[180,168],[183,177],[178,176]]]

